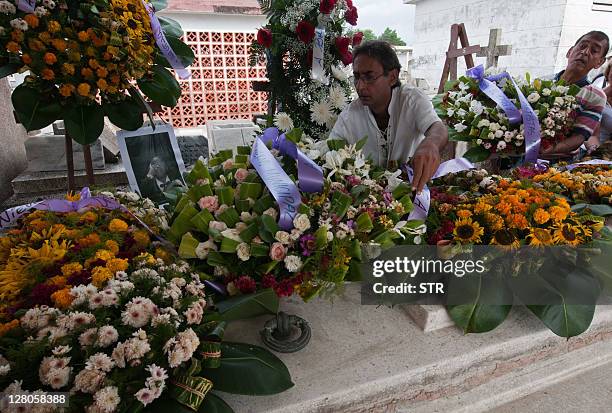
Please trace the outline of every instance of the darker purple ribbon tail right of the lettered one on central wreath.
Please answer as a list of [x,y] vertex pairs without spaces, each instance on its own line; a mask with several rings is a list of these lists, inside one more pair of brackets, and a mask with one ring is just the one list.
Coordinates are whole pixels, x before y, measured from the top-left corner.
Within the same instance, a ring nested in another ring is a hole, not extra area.
[[282,155],[297,161],[300,189],[304,192],[317,193],[323,190],[323,169],[291,142],[285,134],[279,135],[277,128],[267,128],[259,137],[263,143],[272,143],[272,148]]

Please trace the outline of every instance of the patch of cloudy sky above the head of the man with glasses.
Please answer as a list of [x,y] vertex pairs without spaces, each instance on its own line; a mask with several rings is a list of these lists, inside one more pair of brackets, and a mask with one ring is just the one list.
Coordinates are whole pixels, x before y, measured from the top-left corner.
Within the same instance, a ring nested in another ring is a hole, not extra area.
[[377,35],[386,27],[397,30],[397,34],[411,45],[414,38],[414,8],[402,0],[353,0],[359,20],[357,27],[372,29]]

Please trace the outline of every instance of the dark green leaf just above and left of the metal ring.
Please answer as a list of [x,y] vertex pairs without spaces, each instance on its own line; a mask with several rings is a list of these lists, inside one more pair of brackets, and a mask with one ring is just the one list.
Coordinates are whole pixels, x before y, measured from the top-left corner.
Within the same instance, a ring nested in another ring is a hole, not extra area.
[[[209,255],[210,256],[210,255]],[[217,303],[219,320],[233,321],[278,312],[278,296],[271,289],[239,295]]]

